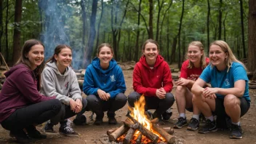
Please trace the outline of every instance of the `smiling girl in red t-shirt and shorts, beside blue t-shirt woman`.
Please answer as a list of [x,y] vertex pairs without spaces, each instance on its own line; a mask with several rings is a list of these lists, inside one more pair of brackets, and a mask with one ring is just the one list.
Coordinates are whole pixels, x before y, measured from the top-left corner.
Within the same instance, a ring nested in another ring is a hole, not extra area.
[[[180,79],[175,82],[177,89],[175,91],[175,99],[177,103],[177,110],[179,112],[178,121],[174,128],[180,129],[188,125],[188,130],[196,130],[199,128],[199,110],[192,103],[193,94],[191,87],[199,78],[201,72],[209,63],[209,58],[205,57],[204,45],[201,41],[192,41],[188,44],[187,52],[188,60],[185,60],[181,67]],[[185,117],[185,109],[193,112],[190,124],[187,123]]]

